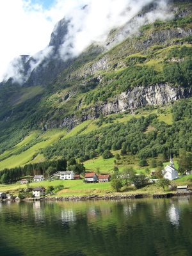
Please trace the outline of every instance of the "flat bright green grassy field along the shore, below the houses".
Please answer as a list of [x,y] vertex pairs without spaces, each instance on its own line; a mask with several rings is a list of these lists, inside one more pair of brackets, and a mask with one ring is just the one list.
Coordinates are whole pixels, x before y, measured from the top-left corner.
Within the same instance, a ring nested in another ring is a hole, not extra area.
[[[192,184],[191,182],[192,175],[180,177],[179,179],[173,180],[172,183],[176,186],[178,185],[187,185]],[[110,182],[101,182],[101,183],[84,183],[83,179],[81,180],[52,180],[52,181],[42,181],[42,182],[31,182],[29,184],[29,188],[36,188],[39,186],[44,186],[47,188],[48,186],[56,187],[58,185],[63,185],[64,189],[61,189],[54,196],[80,196],[80,195],[105,195],[108,193],[109,195],[113,194],[122,194],[122,193],[142,193],[142,194],[156,194],[156,193],[170,193],[170,191],[163,191],[163,188],[159,188],[157,184],[147,185],[141,189],[135,189],[132,186],[124,187],[120,192],[116,193],[111,188]],[[17,184],[11,185],[3,185],[0,184],[0,191],[4,191],[5,193],[13,193],[13,195],[18,195],[20,189],[27,188],[27,185],[20,185],[19,182]]]

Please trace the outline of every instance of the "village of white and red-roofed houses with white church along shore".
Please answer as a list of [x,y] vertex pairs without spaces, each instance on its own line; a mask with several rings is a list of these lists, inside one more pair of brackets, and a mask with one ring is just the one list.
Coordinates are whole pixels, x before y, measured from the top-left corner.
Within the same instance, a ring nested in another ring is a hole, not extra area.
[[[162,177],[164,180],[168,180],[169,182],[172,180],[177,180],[179,179],[178,171],[174,167],[174,163],[172,160],[172,157],[170,157],[170,164],[166,165],[164,169],[161,171],[162,172]],[[189,175],[191,172],[186,172],[185,175]],[[124,173],[118,173],[118,177],[120,179],[124,179]],[[129,177],[130,174],[127,174]],[[139,175],[139,174],[136,174]],[[152,171],[150,173],[150,177],[145,177],[147,179],[147,182],[149,184],[154,184],[159,182],[159,179],[153,179],[152,177],[155,177],[156,175],[156,170]],[[91,183],[103,183],[103,182],[110,182],[111,181],[111,176],[113,178],[113,175],[110,174],[97,174],[95,172],[87,172],[84,173],[84,175],[79,175],[74,173],[73,171],[63,171],[63,172],[56,172],[52,174],[48,179],[45,179],[44,175],[35,175],[32,180],[29,179],[21,179],[20,180],[20,185],[26,184],[27,188],[24,190],[25,192],[31,192],[32,198],[38,200],[40,198],[44,198],[45,196],[55,196],[56,193],[52,191],[48,191],[47,188],[44,188],[44,186],[36,186],[35,188],[29,188],[29,183],[38,183],[38,182],[44,182],[45,180],[51,181],[51,180],[83,180],[85,186],[86,183],[91,184]],[[116,175],[117,177],[117,175]],[[128,178],[127,177],[127,178]],[[170,183],[168,183],[170,184]],[[132,184],[134,186],[134,184]],[[166,185],[165,185],[166,186]],[[62,189],[63,186],[61,186],[60,189]],[[49,189],[50,190],[50,189]],[[176,188],[177,194],[179,195],[180,193],[191,193],[192,192],[192,186],[189,184],[185,185],[179,185]],[[157,196],[158,197],[158,196]],[[10,193],[5,193],[5,192],[0,192],[0,200],[19,200],[22,198],[19,198],[19,196],[13,196]]]

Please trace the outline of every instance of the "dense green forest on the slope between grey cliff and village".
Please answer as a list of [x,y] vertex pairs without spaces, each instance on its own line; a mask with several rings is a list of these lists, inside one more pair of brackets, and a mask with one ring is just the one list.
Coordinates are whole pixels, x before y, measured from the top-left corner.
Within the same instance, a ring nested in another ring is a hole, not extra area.
[[[51,147],[45,148],[44,156],[65,156],[79,158],[81,162],[95,156],[111,157],[110,150],[120,150],[124,156],[127,153],[138,154],[141,166],[145,166],[145,159],[163,154],[168,159],[170,153],[179,156],[182,148],[186,152],[192,150],[192,103],[175,102],[173,105],[173,125],[159,122],[157,116],[141,116],[132,118],[126,124],[111,124],[81,136],[74,136],[59,141]],[[148,125],[154,127],[153,131],[145,132]]]

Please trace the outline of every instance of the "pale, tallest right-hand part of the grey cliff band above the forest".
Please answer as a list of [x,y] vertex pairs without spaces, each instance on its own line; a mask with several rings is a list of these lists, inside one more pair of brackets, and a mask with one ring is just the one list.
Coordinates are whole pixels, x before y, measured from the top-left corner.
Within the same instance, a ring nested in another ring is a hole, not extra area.
[[180,86],[172,87],[169,84],[156,84],[145,87],[140,86],[121,93],[114,101],[95,106],[95,113],[110,115],[124,112],[143,106],[162,105],[175,100],[191,97],[192,90]]

